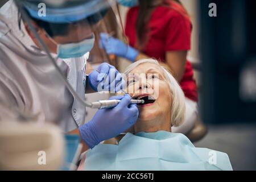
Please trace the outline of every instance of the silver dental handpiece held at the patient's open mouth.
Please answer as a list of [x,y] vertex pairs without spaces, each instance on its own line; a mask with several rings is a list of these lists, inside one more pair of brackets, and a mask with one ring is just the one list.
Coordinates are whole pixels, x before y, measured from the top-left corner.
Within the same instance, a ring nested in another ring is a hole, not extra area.
[[[94,109],[107,109],[118,105],[121,100],[100,100],[92,102],[92,108]],[[130,104],[143,104],[144,100],[131,100]]]

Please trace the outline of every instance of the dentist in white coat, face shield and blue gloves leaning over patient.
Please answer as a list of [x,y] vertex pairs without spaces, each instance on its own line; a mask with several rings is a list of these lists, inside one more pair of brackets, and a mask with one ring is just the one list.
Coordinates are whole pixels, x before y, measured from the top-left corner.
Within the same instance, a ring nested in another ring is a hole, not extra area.
[[[80,98],[85,100],[85,93],[100,91],[98,88],[106,85],[106,81],[107,85],[114,82],[117,86],[121,77],[112,65],[103,63],[89,76],[85,75],[86,60],[94,44],[93,30],[114,1],[43,2],[47,7],[46,16],[38,13],[42,1],[19,0],[40,39]],[[132,126],[137,121],[138,109],[130,105],[131,97],[127,94],[118,97],[121,102],[117,106],[98,110],[92,120],[84,124],[85,106],[63,84],[16,3],[11,0],[0,9],[2,104],[38,122],[52,122],[64,132],[79,134],[85,150]],[[109,77],[114,73],[115,77],[106,80],[101,77],[102,73]]]

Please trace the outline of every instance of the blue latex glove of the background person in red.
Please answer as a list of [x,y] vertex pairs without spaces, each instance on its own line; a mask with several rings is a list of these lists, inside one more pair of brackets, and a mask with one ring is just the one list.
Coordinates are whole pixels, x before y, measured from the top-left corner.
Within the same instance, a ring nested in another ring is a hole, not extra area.
[[104,48],[108,55],[117,55],[133,62],[139,53],[136,49],[127,46],[125,43],[106,33],[100,34],[100,47]]

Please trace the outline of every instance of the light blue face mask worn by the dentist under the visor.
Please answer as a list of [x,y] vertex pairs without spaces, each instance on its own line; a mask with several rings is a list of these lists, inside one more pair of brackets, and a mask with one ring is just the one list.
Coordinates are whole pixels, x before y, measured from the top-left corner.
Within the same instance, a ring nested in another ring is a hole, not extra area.
[[[52,42],[57,44],[53,39]],[[69,43],[69,44],[57,44],[57,57],[61,59],[68,59],[73,57],[84,56],[85,53],[92,50],[94,45],[94,34],[92,38],[82,40],[79,43]]]

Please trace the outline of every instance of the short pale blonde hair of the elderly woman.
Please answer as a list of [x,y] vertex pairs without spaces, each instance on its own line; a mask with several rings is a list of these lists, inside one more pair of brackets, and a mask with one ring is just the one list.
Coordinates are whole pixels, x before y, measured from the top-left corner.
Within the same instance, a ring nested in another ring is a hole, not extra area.
[[154,59],[141,59],[136,61],[133,64],[130,64],[129,67],[127,67],[126,71],[124,72],[125,75],[127,76],[134,68],[136,68],[139,64],[143,64],[143,63],[156,64],[163,71],[164,77],[168,82],[168,85],[171,90],[171,95],[172,95],[171,124],[172,126],[181,125],[185,117],[185,96],[178,82],[171,75],[171,73],[168,72],[166,68],[164,68],[164,66],[160,65],[158,61]]

